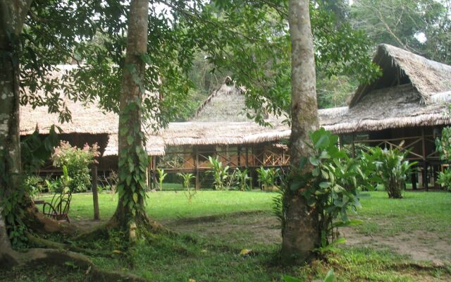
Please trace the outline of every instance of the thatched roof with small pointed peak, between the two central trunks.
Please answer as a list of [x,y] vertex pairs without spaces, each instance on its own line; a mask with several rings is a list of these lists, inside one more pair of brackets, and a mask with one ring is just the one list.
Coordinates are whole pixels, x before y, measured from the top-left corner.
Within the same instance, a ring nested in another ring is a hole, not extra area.
[[199,106],[191,121],[170,123],[161,135],[166,146],[245,145],[273,142],[290,137],[283,117],[266,116],[271,126],[261,126],[247,114],[243,89],[230,78]]

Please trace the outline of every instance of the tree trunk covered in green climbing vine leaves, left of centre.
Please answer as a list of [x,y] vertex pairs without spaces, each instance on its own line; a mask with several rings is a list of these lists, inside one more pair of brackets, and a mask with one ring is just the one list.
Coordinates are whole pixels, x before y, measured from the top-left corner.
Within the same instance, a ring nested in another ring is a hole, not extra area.
[[144,209],[147,153],[143,147],[141,104],[147,54],[148,0],[132,0],[122,80],[119,121],[119,202],[113,221],[135,237],[136,223],[147,220]]

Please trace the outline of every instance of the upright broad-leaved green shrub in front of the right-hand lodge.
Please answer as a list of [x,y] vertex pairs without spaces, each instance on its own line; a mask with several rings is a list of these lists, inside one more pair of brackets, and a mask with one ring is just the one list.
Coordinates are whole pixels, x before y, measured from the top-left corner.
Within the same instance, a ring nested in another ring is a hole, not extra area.
[[408,151],[401,151],[398,147],[369,147],[368,152],[362,152],[362,162],[373,171],[372,180],[383,184],[390,198],[402,198],[406,179],[412,172],[412,166],[416,164],[416,161],[405,160],[407,154]]

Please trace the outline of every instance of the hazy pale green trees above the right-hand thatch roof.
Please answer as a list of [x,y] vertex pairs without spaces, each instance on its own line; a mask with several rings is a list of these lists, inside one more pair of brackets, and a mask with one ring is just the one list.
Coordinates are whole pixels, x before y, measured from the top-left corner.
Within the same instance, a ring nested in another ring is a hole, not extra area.
[[450,7],[450,0],[359,0],[350,6],[350,20],[376,44],[450,64]]

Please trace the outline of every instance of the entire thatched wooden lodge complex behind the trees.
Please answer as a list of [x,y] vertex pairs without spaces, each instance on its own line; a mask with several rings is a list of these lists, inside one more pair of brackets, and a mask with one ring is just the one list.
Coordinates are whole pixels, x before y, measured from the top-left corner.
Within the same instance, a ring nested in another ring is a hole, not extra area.
[[[409,159],[419,161],[414,183],[421,178],[421,185],[427,188],[428,178],[433,179],[441,165],[435,137],[451,123],[445,115],[451,102],[451,66],[387,44],[378,47],[373,62],[381,66],[381,78],[360,85],[349,106],[319,110],[320,124],[340,135],[341,145],[349,145],[354,154],[362,144],[390,148],[404,141],[402,149],[410,150]],[[59,123],[58,115],[48,114],[44,107],[21,107],[20,134],[29,135],[36,128],[46,134],[56,124],[63,130],[61,139],[71,145],[98,142],[98,170],[116,170],[118,116],[104,113],[97,104],[66,103],[72,123]],[[283,141],[290,137],[290,128],[283,123],[285,117],[269,115],[266,121],[272,126],[263,127],[247,118],[248,111],[242,90],[228,81],[206,99],[190,121],[169,123],[158,134],[148,135],[150,178],[156,168],[164,168],[168,173],[194,173],[197,187],[202,186],[208,157],[251,172],[260,166],[288,166]],[[46,171],[51,168],[44,168]]]

